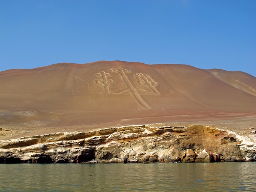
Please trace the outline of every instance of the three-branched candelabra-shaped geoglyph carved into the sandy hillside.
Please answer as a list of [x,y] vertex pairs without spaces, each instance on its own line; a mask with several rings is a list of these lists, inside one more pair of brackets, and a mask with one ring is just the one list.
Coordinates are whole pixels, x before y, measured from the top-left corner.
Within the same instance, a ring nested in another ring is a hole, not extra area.
[[[99,73],[94,74],[97,78],[99,78],[99,79],[94,80],[94,83],[96,85],[100,85],[101,87],[103,87],[104,92],[106,94],[110,94],[110,93],[112,93],[112,94],[122,94],[122,93],[128,91],[135,97],[135,99],[143,107],[146,107],[148,109],[151,108],[148,105],[148,103],[146,103],[146,101],[143,98],[141,98],[137,89],[132,85],[131,81],[126,76],[126,73],[131,73],[130,69],[123,69],[121,67],[116,67],[116,68],[112,68],[112,69],[109,69],[109,70],[111,72],[115,72],[115,73],[119,74],[121,79],[124,81],[124,84],[126,85],[126,89],[121,90],[119,92],[110,92],[110,84],[112,84],[114,81],[112,79],[109,79],[110,74],[106,73],[105,71],[101,71]],[[160,92],[156,89],[156,86],[158,85],[158,83],[156,81],[154,81],[153,78],[150,77],[148,74],[137,73],[137,74],[134,75],[134,77],[136,78],[137,83],[139,85],[149,87],[152,90],[151,94],[160,95]]]

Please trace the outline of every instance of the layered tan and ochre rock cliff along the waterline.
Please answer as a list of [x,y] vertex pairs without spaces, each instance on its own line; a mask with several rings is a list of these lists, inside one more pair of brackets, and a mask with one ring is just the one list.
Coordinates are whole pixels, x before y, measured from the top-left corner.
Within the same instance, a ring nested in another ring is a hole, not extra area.
[[215,127],[133,125],[0,141],[0,163],[254,161],[235,134]]

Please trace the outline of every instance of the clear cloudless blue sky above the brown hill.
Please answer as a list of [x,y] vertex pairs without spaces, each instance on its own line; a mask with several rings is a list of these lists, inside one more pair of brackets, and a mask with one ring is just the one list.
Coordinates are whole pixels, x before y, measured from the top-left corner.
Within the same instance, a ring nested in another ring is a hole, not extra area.
[[256,76],[256,0],[0,0],[0,71],[98,60]]

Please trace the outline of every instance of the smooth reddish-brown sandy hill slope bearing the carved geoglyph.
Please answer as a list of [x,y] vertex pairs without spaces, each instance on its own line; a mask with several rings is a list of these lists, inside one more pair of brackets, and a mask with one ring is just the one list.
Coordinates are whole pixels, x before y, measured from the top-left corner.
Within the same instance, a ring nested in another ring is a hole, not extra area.
[[0,127],[30,132],[256,114],[256,78],[240,71],[123,61],[0,72]]

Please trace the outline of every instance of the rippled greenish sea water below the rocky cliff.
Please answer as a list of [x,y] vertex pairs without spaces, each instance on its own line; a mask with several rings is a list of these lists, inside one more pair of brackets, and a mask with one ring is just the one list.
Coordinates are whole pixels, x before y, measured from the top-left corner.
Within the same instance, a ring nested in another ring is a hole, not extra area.
[[0,164],[0,191],[256,191],[256,163]]

